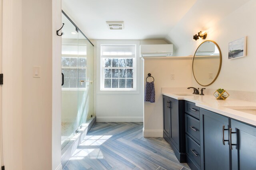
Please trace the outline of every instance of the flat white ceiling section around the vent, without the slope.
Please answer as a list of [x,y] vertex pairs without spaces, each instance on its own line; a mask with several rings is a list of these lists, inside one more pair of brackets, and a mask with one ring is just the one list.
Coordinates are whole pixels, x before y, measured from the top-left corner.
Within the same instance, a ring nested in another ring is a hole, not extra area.
[[[62,0],[62,9],[89,39],[165,38],[196,0]],[[110,30],[106,21],[124,21]]]

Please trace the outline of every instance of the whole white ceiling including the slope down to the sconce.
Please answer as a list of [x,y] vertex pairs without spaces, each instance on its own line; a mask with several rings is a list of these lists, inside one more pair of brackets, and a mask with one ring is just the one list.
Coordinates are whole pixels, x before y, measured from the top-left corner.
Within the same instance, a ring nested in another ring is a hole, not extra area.
[[[176,46],[250,0],[62,0],[89,39],[167,39]],[[124,21],[110,30],[106,21]]]

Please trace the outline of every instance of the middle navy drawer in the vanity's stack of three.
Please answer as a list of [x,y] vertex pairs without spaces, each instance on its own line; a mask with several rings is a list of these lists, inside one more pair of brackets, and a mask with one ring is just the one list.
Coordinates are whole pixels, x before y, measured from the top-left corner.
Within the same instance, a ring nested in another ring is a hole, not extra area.
[[185,114],[186,133],[200,144],[200,121],[188,114]]

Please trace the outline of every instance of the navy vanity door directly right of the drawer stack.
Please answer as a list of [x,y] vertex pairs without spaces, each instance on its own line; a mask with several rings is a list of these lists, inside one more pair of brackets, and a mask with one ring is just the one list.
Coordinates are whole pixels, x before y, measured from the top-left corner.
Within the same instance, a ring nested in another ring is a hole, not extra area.
[[200,108],[201,170],[230,170],[229,127],[229,117]]

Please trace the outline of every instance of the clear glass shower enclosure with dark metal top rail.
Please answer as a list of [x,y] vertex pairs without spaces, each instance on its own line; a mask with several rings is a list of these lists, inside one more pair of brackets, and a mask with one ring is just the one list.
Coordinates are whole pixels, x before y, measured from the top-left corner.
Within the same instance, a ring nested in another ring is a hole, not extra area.
[[93,115],[93,45],[62,12],[61,146]]

